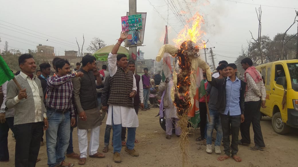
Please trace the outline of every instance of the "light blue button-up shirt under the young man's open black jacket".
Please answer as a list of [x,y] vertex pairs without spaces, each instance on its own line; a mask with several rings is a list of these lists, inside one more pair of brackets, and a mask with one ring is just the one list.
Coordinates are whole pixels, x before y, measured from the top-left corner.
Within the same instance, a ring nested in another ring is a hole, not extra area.
[[240,110],[240,89],[241,81],[236,77],[234,82],[228,77],[226,78],[226,109],[224,111],[225,115],[241,115]]

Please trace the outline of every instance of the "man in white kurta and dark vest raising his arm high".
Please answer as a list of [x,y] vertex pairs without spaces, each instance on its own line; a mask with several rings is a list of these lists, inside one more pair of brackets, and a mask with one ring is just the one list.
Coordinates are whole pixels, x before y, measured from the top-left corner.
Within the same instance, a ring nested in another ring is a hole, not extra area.
[[121,32],[118,42],[114,45],[108,56],[108,69],[110,73],[110,97],[108,100],[107,125],[113,126],[113,146],[115,163],[120,163],[121,127],[127,127],[127,142],[125,151],[132,156],[138,157],[139,153],[134,149],[136,127],[139,126],[138,116],[134,110],[133,98],[136,95],[136,79],[134,74],[127,68],[127,56],[118,54],[117,51],[127,38],[125,32]]

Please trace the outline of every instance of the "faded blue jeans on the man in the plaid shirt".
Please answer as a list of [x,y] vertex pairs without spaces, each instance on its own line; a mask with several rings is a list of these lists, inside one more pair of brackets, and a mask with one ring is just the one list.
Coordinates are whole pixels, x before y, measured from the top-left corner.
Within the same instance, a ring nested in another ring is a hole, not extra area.
[[[70,138],[70,113],[64,114],[46,111],[49,127],[46,130],[46,152],[48,155],[49,167],[65,159],[65,152],[69,145]],[[59,149],[56,150],[57,138],[59,138]]]

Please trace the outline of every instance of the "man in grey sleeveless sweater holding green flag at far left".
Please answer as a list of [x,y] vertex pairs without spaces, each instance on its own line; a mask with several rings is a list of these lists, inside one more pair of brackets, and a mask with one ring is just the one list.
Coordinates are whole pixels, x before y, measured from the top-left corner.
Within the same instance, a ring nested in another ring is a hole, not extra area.
[[[7,84],[5,105],[7,108],[15,108],[15,166],[34,167],[42,132],[48,128],[44,94],[40,80],[33,75],[36,70],[33,56],[22,54],[18,62],[21,72],[15,78],[12,73],[1,73],[7,80],[14,80]],[[3,67],[8,68],[4,61],[1,62],[1,69]]]

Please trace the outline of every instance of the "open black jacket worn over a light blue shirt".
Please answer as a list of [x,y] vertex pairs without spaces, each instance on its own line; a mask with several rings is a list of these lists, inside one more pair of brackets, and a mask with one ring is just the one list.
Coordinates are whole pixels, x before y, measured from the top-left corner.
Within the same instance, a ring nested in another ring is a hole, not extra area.
[[[218,108],[219,113],[224,113],[226,109],[226,78],[214,78],[212,77],[212,81],[208,81],[212,86],[218,89],[218,102],[216,107]],[[239,105],[241,114],[244,114],[244,100],[245,100],[245,90],[246,83],[240,80],[240,98]]]

